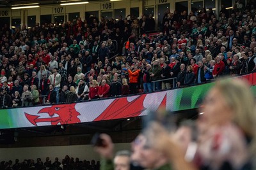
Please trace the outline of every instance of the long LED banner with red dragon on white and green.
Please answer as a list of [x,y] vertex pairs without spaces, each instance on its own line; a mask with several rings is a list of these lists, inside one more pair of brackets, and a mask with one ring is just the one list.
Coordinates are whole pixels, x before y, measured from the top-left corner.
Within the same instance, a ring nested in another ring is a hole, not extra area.
[[[252,92],[256,96],[256,73],[237,78],[249,81]],[[0,110],[0,129],[140,117],[147,115],[149,110],[156,111],[159,107],[166,108],[168,111],[189,110],[200,106],[205,94],[213,85],[214,82],[138,96]]]

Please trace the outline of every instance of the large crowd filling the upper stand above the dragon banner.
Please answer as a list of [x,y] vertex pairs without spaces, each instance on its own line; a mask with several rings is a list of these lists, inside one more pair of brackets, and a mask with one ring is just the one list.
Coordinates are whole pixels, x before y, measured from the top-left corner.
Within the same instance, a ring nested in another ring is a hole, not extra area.
[[166,11],[161,31],[155,30],[152,15],[79,17],[74,23],[35,23],[29,29],[5,24],[0,31],[0,106],[74,103],[252,73],[253,6],[253,1],[238,2],[232,10],[222,5],[218,17],[211,8]]

